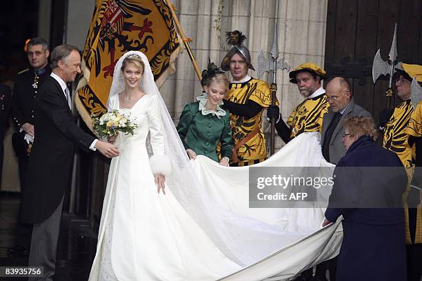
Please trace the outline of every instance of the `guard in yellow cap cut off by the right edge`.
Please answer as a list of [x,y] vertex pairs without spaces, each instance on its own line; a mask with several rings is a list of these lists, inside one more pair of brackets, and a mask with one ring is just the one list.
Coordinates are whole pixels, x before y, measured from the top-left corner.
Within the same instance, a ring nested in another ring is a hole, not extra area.
[[[416,88],[412,87],[414,103],[419,101],[413,110],[405,134],[409,136],[409,143],[414,143],[416,150],[415,169],[412,185],[403,196],[405,202],[406,219],[406,250],[408,259],[408,280],[422,280],[422,65],[402,63],[405,81],[402,87],[410,91],[412,79],[415,77]],[[417,89],[419,88],[419,90]],[[416,94],[415,92],[419,92]]]

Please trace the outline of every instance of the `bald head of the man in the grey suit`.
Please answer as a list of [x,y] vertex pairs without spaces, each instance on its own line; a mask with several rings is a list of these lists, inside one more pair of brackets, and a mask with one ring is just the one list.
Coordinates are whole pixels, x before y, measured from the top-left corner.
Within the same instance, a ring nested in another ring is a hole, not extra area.
[[335,77],[328,83],[325,90],[328,103],[333,112],[341,112],[350,103],[352,92],[349,82],[343,77]]

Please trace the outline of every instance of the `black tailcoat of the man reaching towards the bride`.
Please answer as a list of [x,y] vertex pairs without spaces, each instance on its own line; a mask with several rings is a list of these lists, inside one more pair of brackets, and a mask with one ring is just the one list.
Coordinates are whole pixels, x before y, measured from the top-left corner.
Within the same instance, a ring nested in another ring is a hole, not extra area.
[[46,220],[70,187],[75,144],[88,150],[94,137],[77,126],[59,83],[48,76],[34,103],[36,136],[22,193],[21,218]]

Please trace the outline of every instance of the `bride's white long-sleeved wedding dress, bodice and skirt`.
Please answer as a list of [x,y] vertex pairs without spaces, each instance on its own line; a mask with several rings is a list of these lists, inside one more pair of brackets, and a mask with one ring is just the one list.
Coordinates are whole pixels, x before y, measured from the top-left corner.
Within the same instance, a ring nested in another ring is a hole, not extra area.
[[[157,97],[146,94],[124,114],[136,118],[133,136],[119,134],[89,280],[216,280],[240,269],[217,249],[172,196],[157,193],[145,142],[163,152]],[[118,108],[119,98],[109,105]]]

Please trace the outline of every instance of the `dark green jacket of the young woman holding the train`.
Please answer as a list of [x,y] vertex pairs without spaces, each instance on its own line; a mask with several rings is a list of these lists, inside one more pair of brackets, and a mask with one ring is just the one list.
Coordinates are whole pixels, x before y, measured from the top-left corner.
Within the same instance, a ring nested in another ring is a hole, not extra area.
[[220,118],[212,113],[203,115],[199,110],[199,101],[188,103],[183,108],[177,132],[185,149],[192,149],[197,155],[207,156],[219,162],[217,145],[221,141],[221,156],[232,158],[232,129],[230,114],[225,110]]

